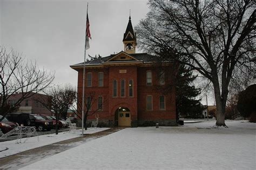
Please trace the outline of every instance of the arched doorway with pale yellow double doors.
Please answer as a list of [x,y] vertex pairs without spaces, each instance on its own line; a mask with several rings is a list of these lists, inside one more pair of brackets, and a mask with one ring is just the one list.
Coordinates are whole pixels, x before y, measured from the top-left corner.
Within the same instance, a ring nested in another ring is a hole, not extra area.
[[127,107],[119,107],[114,112],[115,126],[131,126],[131,112]]

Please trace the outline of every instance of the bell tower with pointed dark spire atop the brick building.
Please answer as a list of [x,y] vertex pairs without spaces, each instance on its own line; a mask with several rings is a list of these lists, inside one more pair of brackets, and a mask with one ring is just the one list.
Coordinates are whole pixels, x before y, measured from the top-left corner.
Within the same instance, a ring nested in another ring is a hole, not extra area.
[[128,22],[126,31],[124,33],[123,43],[124,43],[125,52],[129,54],[136,52],[136,46],[137,46],[136,33],[134,33],[132,28],[131,14],[129,16],[129,22]]

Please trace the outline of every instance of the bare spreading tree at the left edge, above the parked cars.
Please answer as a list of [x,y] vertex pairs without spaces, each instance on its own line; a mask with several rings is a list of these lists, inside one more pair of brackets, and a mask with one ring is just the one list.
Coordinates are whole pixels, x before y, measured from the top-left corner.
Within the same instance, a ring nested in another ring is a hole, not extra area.
[[[13,49],[7,52],[0,46],[0,57],[0,114],[4,118],[7,113],[16,111],[24,99],[49,87],[55,75],[39,70],[36,63],[25,60]],[[22,95],[10,104],[9,97],[15,93]]]

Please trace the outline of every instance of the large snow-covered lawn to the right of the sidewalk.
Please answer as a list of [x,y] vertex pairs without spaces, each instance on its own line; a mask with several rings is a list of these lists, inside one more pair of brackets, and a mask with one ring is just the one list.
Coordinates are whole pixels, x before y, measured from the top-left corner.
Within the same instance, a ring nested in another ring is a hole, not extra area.
[[214,124],[125,128],[22,169],[254,169],[256,124]]

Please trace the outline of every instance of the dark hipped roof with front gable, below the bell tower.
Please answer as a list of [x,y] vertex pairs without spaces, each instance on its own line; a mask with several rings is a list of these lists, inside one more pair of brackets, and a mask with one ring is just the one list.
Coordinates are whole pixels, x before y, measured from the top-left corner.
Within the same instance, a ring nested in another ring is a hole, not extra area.
[[[87,62],[85,62],[85,65],[102,65],[105,62],[109,61],[111,58],[114,58],[114,57],[118,56],[120,53],[125,53],[128,56],[132,56],[134,59],[137,59],[138,61],[142,61],[143,63],[158,63],[158,62],[160,62],[160,60],[157,56],[152,56],[152,55],[149,55],[147,53],[128,54],[124,51],[121,51],[121,52],[119,52],[115,55],[110,55],[110,56],[107,56],[107,57],[102,57],[102,58],[98,58],[98,59],[95,59],[95,60],[87,61]],[[129,61],[129,62],[131,62],[131,60],[120,60],[120,61],[122,61],[122,62],[126,62],[126,61],[128,62]],[[118,60],[115,60],[114,62],[118,62]],[[82,66],[82,65],[84,65],[84,62],[71,65],[71,67]]]

